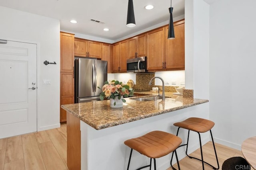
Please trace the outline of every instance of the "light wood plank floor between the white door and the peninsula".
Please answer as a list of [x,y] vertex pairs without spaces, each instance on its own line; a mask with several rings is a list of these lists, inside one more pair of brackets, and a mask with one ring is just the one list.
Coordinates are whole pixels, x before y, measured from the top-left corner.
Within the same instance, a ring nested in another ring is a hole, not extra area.
[[68,170],[66,124],[0,139],[0,170]]

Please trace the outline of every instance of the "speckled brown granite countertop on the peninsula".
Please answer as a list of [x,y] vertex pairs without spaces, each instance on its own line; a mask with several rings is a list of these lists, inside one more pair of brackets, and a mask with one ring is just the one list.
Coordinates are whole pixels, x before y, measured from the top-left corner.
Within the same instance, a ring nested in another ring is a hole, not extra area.
[[[152,92],[140,93],[147,94]],[[148,96],[155,95],[151,94]],[[143,98],[148,96],[133,98]],[[209,100],[204,99],[183,98],[183,96],[173,95],[171,92],[166,92],[165,96],[169,97],[166,98],[165,101],[160,99],[147,102],[140,102],[137,100],[132,100],[132,98],[125,98],[126,102],[121,108],[110,107],[110,100],[86,102],[80,104],[67,104],[62,105],[61,107],[94,129],[100,130],[209,102]]]

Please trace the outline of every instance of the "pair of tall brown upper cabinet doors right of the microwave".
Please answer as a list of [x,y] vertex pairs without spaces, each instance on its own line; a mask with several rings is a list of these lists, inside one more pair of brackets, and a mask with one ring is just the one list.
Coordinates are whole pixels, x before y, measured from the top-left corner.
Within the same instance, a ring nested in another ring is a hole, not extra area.
[[174,23],[175,39],[167,39],[169,26],[147,33],[149,71],[185,69],[184,23],[184,20]]

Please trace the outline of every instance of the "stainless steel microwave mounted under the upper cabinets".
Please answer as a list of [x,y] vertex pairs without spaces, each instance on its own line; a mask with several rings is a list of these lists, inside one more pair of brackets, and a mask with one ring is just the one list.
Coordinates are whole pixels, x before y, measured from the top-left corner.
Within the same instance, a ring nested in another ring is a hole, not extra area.
[[147,57],[127,59],[127,72],[147,72]]

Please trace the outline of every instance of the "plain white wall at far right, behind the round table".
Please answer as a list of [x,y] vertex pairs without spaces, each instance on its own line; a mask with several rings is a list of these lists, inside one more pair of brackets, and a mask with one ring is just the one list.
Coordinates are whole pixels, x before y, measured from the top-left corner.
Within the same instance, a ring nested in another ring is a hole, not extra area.
[[210,119],[218,143],[240,149],[256,135],[255,0],[210,5]]

